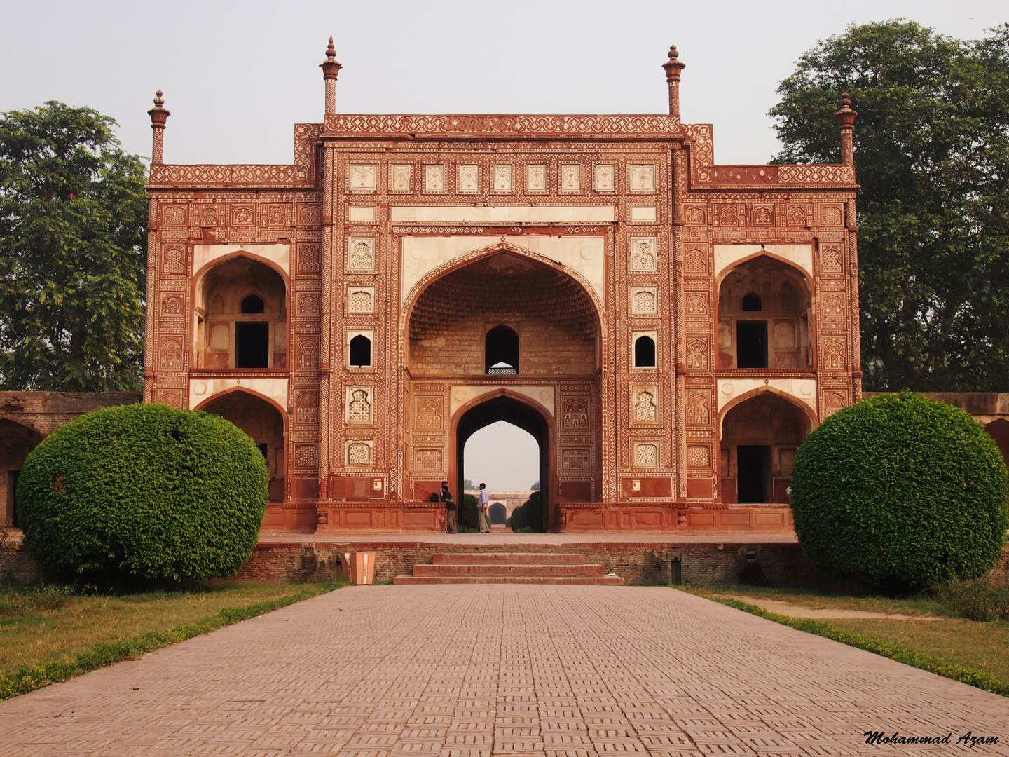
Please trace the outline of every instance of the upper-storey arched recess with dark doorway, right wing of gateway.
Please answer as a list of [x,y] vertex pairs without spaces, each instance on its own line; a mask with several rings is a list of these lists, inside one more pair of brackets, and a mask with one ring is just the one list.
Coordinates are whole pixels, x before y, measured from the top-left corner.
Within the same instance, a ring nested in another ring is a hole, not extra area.
[[804,271],[769,254],[737,263],[718,286],[718,367],[811,368],[812,318]]

